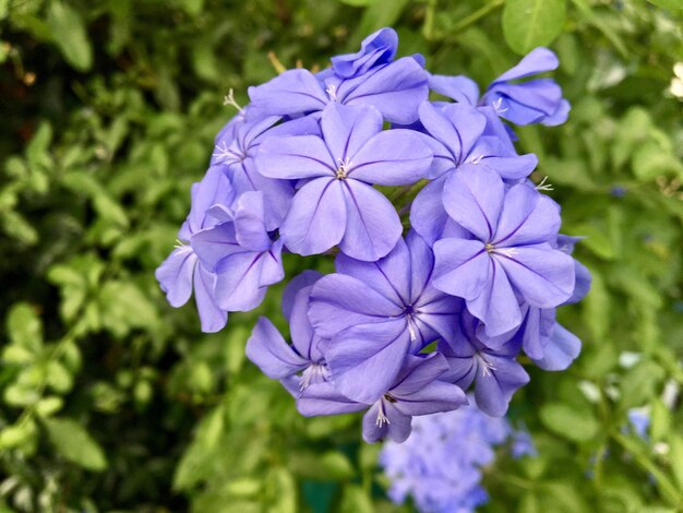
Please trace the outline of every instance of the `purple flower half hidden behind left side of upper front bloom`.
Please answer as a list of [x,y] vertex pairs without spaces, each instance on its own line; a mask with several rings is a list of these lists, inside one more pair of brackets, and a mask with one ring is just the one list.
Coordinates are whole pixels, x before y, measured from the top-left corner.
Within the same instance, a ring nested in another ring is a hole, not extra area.
[[279,117],[269,116],[235,124],[231,130],[225,130],[216,138],[215,152],[212,156],[212,165],[223,168],[236,198],[244,192],[263,192],[265,203],[268,205],[265,211],[268,230],[277,229],[283,222],[293,196],[293,188],[288,180],[266,178],[259,172],[254,165],[254,155],[259,146],[266,136],[320,134],[317,123],[311,118],[276,124],[278,121]]

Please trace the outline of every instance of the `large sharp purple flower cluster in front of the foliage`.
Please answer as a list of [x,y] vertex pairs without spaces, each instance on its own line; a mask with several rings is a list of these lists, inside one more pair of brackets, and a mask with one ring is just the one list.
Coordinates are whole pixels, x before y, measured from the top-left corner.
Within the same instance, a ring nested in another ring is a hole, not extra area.
[[529,179],[536,156],[502,121],[566,119],[558,84],[520,82],[556,68],[554,53],[534,50],[480,96],[419,55],[395,59],[397,44],[384,28],[320,73],[251,87],[156,273],[173,307],[194,291],[215,332],[284,279],[284,252],[336,254],[336,273],[289,282],[291,344],[262,318],[247,355],[303,415],[367,410],[369,442],[406,440],[412,417],[467,404],[471,385],[504,415],[529,380],[520,353],[548,370],[577,356],[555,308],[589,286],[559,205]]

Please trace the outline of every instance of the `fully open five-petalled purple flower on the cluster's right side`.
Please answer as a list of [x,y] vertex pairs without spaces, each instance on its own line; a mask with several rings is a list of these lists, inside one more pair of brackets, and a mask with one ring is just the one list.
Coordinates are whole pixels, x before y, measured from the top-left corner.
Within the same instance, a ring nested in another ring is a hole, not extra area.
[[505,189],[490,169],[464,169],[444,191],[448,215],[469,234],[434,244],[434,286],[465,299],[489,336],[522,323],[520,300],[554,308],[574,291],[574,260],[554,249],[560,213],[520,183]]

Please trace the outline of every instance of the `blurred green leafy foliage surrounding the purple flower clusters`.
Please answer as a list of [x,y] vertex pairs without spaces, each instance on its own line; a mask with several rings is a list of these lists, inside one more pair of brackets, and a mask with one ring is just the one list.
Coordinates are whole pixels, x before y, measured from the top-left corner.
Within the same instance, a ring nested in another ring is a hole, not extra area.
[[[303,419],[245,361],[281,286],[204,335],[153,276],[227,91],[385,25],[481,85],[549,45],[574,106],[518,132],[588,237],[592,290],[561,312],[584,351],[529,368],[511,418],[539,456],[501,450],[484,510],[683,511],[680,0],[0,0],[0,511],[398,511],[358,416]],[[625,428],[642,406],[648,440]]]

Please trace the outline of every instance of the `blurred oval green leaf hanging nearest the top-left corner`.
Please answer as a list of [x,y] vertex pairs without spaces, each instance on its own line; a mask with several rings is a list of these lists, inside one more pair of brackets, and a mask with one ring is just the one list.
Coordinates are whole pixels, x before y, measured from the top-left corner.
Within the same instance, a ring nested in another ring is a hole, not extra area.
[[81,14],[70,5],[52,0],[47,12],[52,40],[69,64],[79,71],[93,67],[93,48]]

